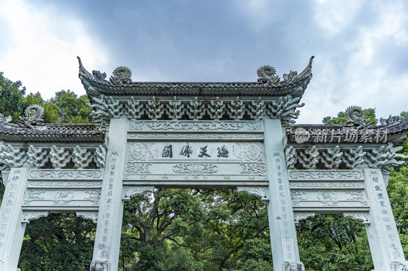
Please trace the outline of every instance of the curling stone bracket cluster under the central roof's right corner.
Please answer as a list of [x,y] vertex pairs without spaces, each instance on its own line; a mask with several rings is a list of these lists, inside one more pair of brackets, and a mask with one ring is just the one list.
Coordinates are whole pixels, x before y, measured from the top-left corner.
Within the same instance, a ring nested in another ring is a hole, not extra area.
[[272,101],[267,106],[266,114],[271,118],[280,118],[293,124],[295,123],[294,119],[300,115],[300,111],[295,109],[304,106],[304,103],[298,104],[299,101],[300,98],[279,97],[278,100]]

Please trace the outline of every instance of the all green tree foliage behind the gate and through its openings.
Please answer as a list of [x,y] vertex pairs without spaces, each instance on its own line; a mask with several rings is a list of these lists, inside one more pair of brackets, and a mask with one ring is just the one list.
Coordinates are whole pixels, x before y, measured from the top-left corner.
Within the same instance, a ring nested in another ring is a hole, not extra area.
[[[25,95],[21,82],[0,73],[0,112],[15,121],[29,104],[46,109],[46,122],[87,123],[88,97],[57,92],[50,100]],[[375,109],[366,109],[376,119]],[[408,117],[407,112],[401,113]],[[344,112],[325,124],[345,124]],[[408,141],[404,142],[408,153]],[[0,185],[0,202],[4,186]],[[408,168],[391,173],[391,204],[408,255]],[[89,270],[96,226],[74,214],[50,214],[25,231],[22,271]],[[317,215],[297,226],[300,258],[308,271],[371,270],[364,226],[341,215]],[[119,270],[269,271],[272,255],[267,209],[258,198],[235,190],[157,189],[124,204]]]

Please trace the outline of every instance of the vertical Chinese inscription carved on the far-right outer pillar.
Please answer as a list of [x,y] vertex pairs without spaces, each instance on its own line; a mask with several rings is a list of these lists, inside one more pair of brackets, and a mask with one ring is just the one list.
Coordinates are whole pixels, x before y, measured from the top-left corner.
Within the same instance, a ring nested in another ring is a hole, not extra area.
[[375,171],[371,171],[370,179],[375,196],[375,203],[377,205],[384,233],[386,235],[388,252],[392,261],[401,261],[403,256],[397,246],[399,242],[395,229],[395,222],[392,216],[391,205],[388,200],[387,190],[384,182],[380,182],[379,175]]

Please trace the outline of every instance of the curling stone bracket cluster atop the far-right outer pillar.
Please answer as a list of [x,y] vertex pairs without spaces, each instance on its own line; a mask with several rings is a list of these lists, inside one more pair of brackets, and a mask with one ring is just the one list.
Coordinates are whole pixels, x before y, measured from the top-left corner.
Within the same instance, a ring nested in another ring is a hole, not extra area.
[[372,148],[366,154],[366,163],[372,168],[381,168],[385,171],[393,171],[394,167],[403,165],[404,161],[397,161],[395,158],[408,159],[408,156],[397,154],[402,150],[402,146],[393,147],[392,145]]

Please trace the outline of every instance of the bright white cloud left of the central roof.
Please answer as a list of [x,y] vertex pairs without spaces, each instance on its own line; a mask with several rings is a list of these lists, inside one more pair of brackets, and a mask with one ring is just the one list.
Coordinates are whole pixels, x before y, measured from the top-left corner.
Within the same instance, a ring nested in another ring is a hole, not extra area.
[[85,94],[76,56],[83,57],[85,67],[105,68],[106,49],[86,25],[53,6],[3,1],[0,22],[7,25],[1,71],[13,81],[22,81],[28,93],[39,91],[45,99],[61,89]]

